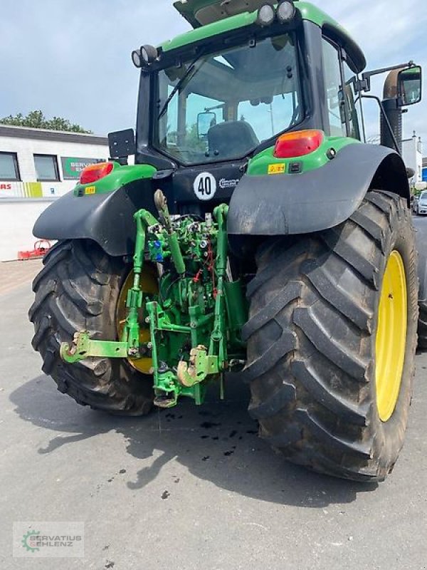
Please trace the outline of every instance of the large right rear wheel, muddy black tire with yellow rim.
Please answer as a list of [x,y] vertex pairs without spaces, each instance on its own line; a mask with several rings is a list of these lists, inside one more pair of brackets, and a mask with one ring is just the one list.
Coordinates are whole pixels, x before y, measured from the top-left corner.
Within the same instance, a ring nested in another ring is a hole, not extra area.
[[317,472],[384,480],[404,444],[416,350],[406,202],[369,192],[339,227],[266,242],[257,264],[243,336],[260,435]]

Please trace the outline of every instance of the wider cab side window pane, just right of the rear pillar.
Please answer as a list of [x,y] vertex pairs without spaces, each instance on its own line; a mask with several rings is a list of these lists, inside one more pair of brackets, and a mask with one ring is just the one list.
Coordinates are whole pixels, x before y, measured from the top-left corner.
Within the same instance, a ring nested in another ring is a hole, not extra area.
[[339,52],[325,38],[322,41],[323,73],[330,121],[330,135],[347,136],[344,89]]

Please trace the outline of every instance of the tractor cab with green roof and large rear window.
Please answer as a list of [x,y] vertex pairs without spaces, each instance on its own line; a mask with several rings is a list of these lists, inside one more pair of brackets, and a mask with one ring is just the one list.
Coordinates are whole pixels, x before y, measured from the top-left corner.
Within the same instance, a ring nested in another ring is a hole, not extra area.
[[[135,162],[164,173],[160,187],[175,213],[228,203],[248,168],[273,172],[281,135],[361,138],[355,87],[365,59],[329,16],[316,9],[314,23],[310,4],[288,0],[174,6],[194,30],[142,46],[132,61],[141,69]],[[255,156],[265,164],[251,164]],[[295,162],[298,174],[304,165]]]

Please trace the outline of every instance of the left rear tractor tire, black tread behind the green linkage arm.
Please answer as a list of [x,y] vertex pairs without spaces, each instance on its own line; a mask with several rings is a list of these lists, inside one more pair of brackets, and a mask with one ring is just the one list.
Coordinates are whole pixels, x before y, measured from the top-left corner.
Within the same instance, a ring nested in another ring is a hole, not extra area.
[[70,365],[59,356],[60,343],[70,342],[75,331],[117,338],[116,306],[130,267],[86,240],[59,242],[43,264],[33,281],[36,299],[29,311],[35,328],[32,344],[43,358],[43,372],[79,404],[119,415],[147,414],[152,378],[127,361],[87,358]]

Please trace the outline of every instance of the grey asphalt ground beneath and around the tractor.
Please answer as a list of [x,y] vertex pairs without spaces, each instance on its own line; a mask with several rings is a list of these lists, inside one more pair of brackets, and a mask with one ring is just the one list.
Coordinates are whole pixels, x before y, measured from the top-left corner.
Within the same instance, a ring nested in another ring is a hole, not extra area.
[[[183,401],[129,419],[60,394],[31,348],[39,266],[0,267],[1,279],[18,275],[0,294],[2,570],[427,568],[426,354],[391,477],[334,480],[258,439],[241,385],[225,403],[213,392],[202,408]],[[85,558],[13,558],[16,521],[84,522]]]

